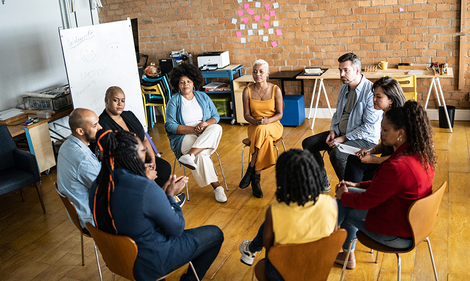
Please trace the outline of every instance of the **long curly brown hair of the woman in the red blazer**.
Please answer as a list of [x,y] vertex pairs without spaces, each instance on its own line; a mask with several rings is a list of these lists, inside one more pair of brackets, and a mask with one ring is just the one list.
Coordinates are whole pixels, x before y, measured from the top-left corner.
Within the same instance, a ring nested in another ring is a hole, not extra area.
[[414,100],[408,100],[403,107],[396,107],[385,112],[385,118],[393,125],[395,130],[404,129],[406,141],[409,146],[403,154],[416,155],[421,165],[429,171],[429,166],[436,164],[432,127],[427,113]]

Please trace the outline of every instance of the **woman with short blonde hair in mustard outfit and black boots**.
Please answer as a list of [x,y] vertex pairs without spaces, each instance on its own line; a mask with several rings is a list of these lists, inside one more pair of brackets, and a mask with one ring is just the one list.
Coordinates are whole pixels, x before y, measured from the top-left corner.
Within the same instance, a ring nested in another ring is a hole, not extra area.
[[276,163],[272,143],[282,136],[282,93],[276,85],[267,82],[269,65],[258,59],[253,64],[254,84],[243,89],[243,114],[248,121],[249,153],[251,162],[240,181],[239,187],[246,188],[251,183],[254,197],[261,198],[259,186],[261,170]]

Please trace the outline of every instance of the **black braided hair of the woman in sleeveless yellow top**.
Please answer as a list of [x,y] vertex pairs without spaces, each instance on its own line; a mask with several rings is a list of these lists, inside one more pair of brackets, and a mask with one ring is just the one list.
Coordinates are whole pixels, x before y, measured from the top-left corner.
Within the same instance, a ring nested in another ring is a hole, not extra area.
[[320,167],[313,154],[307,150],[291,149],[279,156],[276,163],[278,202],[299,206],[308,201],[316,203],[323,189]]

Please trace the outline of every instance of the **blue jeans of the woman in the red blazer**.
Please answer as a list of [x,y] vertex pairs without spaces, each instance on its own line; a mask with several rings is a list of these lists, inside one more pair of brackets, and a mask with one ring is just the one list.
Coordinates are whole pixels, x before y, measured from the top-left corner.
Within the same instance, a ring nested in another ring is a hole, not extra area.
[[[365,189],[360,188],[347,188],[348,192],[361,193]],[[347,231],[346,241],[342,245],[344,252],[349,248],[349,244],[356,238],[357,230],[362,231],[365,235],[388,247],[405,249],[413,245],[413,240],[403,239],[397,236],[388,236],[365,230],[365,217],[367,216],[367,210],[357,210],[350,207],[344,207],[341,204],[341,200],[336,199],[338,203],[338,225]],[[355,242],[351,246],[351,252],[354,251]]]

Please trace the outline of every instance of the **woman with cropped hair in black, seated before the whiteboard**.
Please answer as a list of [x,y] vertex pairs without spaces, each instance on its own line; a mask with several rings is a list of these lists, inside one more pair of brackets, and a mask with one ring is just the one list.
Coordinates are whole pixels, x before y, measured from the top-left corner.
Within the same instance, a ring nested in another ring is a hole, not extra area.
[[[147,170],[145,173],[147,177],[155,180],[158,186],[163,186],[171,174],[171,165],[164,159],[155,156],[140,121],[132,111],[124,111],[125,95],[122,89],[117,86],[109,87],[104,96],[104,104],[106,107],[99,115],[99,124],[103,127],[101,132],[111,129],[134,133],[146,148],[145,166]],[[98,132],[98,135],[101,132]],[[180,202],[180,206],[182,206],[185,195],[183,193],[178,194],[175,200]]]

